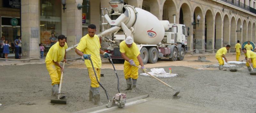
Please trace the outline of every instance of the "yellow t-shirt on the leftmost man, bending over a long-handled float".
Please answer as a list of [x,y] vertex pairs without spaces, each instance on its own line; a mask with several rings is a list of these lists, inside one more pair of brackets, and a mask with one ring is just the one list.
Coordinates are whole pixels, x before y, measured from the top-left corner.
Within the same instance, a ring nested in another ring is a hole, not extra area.
[[52,45],[52,47],[48,51],[45,58],[45,62],[52,61],[52,60],[55,62],[60,62],[61,60],[63,60],[65,56],[65,51],[67,48],[68,48],[68,45],[66,42],[64,47],[60,46],[59,41],[56,42],[54,45]]

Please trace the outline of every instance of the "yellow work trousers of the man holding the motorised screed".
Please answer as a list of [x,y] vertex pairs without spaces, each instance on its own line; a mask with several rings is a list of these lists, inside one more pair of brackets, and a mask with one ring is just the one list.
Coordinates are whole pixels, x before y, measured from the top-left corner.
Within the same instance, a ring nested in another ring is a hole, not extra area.
[[[87,67],[87,69],[88,69],[89,77],[91,79],[92,88],[100,87],[100,85],[99,85],[99,83],[96,79],[96,76],[94,74],[93,68],[92,67]],[[94,69],[95,69],[95,73],[97,74],[97,78],[100,81],[100,69],[99,68],[94,68]]]

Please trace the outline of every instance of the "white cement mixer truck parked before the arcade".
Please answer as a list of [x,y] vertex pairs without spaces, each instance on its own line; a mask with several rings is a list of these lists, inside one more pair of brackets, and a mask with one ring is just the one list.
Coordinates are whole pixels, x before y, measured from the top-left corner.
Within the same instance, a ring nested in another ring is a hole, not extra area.
[[105,51],[111,54],[115,63],[124,61],[119,44],[127,36],[131,36],[139,47],[144,64],[156,63],[164,57],[171,61],[184,59],[189,28],[175,24],[175,15],[174,23],[170,24],[148,11],[124,5],[123,0],[111,0],[109,4],[112,8],[102,8],[102,13],[107,12],[103,14],[107,23],[102,23],[102,28],[106,30],[98,36],[103,44],[108,45]]

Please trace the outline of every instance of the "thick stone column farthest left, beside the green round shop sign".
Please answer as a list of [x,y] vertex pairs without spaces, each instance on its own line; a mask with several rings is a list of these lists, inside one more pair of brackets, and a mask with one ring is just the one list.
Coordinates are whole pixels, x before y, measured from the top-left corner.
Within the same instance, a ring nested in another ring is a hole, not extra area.
[[39,0],[21,1],[22,58],[40,57]]

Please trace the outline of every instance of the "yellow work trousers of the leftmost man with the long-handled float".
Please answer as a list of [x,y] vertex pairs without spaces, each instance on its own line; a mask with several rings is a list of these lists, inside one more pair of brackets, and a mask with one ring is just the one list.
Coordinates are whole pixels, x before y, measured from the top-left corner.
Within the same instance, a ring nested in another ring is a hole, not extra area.
[[52,79],[52,85],[60,84],[61,70],[60,67],[51,61],[46,62],[46,68]]

